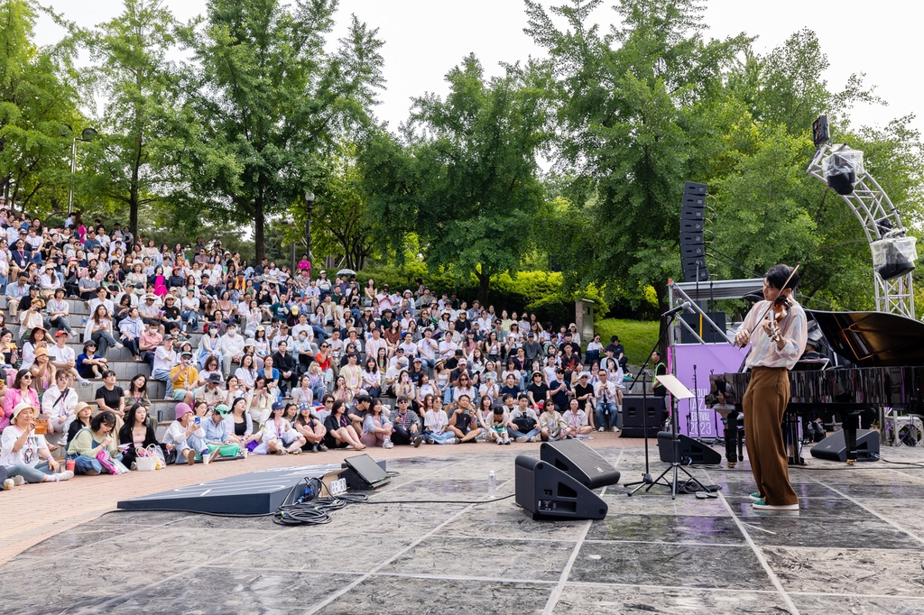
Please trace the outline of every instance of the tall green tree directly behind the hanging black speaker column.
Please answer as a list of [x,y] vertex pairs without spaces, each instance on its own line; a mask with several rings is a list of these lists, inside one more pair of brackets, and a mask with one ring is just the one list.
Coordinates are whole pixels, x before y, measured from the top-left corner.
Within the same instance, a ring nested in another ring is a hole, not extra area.
[[559,153],[574,175],[569,218],[586,241],[581,254],[563,250],[561,264],[572,283],[652,285],[663,305],[679,273],[683,184],[708,174],[721,139],[708,118],[747,40],[705,41],[695,0],[622,0],[619,25],[603,35],[590,25],[601,5],[553,6],[562,30],[527,0],[527,32],[555,71]]

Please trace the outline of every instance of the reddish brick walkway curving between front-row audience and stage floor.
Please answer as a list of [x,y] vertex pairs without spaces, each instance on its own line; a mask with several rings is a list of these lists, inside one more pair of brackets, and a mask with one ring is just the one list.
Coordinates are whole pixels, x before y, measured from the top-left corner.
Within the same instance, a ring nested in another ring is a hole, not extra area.
[[[639,456],[643,440],[620,439],[614,433],[596,433],[593,440],[585,440],[590,446],[626,446],[638,448]],[[652,459],[657,459],[657,440],[649,440]],[[539,444],[512,444],[505,450],[535,450]],[[460,444],[453,447],[423,445],[415,450],[407,446],[391,450],[367,449],[374,459],[397,459],[414,455],[432,455],[433,452],[458,455],[478,455],[480,452],[494,452],[497,445],[478,443]],[[137,498],[171,488],[194,485],[216,480],[225,476],[236,476],[267,467],[294,464],[331,464],[344,457],[356,454],[354,451],[330,451],[302,453],[297,457],[280,455],[251,455],[246,460],[218,462],[209,465],[196,464],[170,466],[158,472],[131,472],[122,476],[75,476],[63,483],[23,485],[0,493],[4,523],[0,527],[0,565],[13,556],[42,542],[48,537],[86,523],[101,514],[116,509],[118,500]]]

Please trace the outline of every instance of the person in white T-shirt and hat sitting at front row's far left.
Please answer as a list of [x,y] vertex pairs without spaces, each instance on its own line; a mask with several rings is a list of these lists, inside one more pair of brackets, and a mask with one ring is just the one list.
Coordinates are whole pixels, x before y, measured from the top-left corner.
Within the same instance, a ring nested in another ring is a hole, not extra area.
[[12,421],[0,436],[0,466],[6,468],[6,476],[13,478],[17,485],[71,478],[74,473],[61,471],[44,437],[35,433],[35,414],[35,406],[29,403],[18,404],[13,409]]

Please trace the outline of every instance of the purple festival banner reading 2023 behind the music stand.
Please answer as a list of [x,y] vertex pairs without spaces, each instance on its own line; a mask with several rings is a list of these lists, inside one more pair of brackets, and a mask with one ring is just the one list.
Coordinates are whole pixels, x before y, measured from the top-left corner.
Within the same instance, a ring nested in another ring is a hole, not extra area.
[[[678,344],[673,350],[677,380],[696,394],[693,399],[677,402],[680,433],[691,438],[721,438],[722,416],[706,407],[705,398],[710,390],[709,377],[712,373],[737,371],[748,354],[747,349],[732,344]],[[696,386],[693,385],[694,366]]]

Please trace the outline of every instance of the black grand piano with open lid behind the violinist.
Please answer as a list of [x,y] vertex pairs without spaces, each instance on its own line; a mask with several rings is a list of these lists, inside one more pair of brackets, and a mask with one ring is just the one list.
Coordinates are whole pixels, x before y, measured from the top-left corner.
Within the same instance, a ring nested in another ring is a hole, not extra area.
[[[847,462],[853,463],[861,415],[879,416],[882,426],[887,408],[910,414],[924,411],[924,323],[885,312],[806,312],[839,360],[824,369],[813,369],[821,364],[812,361],[796,365],[789,372],[786,412],[826,421],[840,416]],[[740,410],[750,372],[728,373],[725,380]]]

